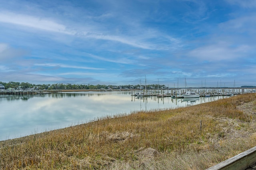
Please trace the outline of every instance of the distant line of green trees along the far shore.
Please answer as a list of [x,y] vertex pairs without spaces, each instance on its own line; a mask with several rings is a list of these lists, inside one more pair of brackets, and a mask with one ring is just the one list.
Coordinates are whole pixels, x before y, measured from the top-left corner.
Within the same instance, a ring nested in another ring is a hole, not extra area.
[[[0,82],[0,84],[4,85],[5,89],[8,88],[15,88],[15,89],[28,89],[28,88],[37,88],[38,90],[61,90],[61,89],[140,89],[140,88],[145,88],[145,86],[140,86],[138,85],[120,85],[120,86],[114,86],[114,85],[92,85],[92,84],[30,84],[28,82]],[[164,85],[160,85],[160,84],[150,84],[147,85],[146,88],[153,88],[153,89],[157,89],[157,88],[166,88]]]

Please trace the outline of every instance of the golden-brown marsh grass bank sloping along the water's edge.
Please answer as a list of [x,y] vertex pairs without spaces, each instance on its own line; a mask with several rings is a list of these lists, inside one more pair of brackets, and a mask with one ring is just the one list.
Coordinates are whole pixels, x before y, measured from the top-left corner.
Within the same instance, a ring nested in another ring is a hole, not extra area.
[[243,94],[2,141],[0,168],[203,170],[255,145],[256,94]]

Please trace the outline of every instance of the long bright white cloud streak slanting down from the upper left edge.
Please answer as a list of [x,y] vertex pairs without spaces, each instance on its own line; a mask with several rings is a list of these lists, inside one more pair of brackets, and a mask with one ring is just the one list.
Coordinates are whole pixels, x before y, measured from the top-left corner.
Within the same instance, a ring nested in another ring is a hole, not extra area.
[[[34,29],[40,29],[42,31],[50,31],[56,33],[64,33],[67,35],[74,35],[82,38],[93,38],[93,39],[100,39],[100,40],[107,40],[107,41],[116,41],[118,43],[123,43],[126,45],[130,45],[137,48],[142,49],[170,49],[170,47],[174,48],[178,42],[177,39],[170,37],[168,35],[161,35],[157,31],[144,31],[144,35],[114,35],[112,33],[106,33],[105,30],[93,30],[95,25],[89,25],[89,29],[86,27],[73,27],[64,24],[60,24],[50,18],[43,18],[37,16],[29,16],[25,14],[16,14],[13,12],[0,12],[0,22],[2,23],[10,23],[14,25],[20,25],[25,27],[30,27]],[[83,30],[86,29],[87,31],[84,32]],[[156,43],[149,43],[148,39],[150,38],[157,38],[161,41],[165,41],[165,43],[169,43],[170,45],[162,45]],[[172,45],[172,46],[171,46]]]

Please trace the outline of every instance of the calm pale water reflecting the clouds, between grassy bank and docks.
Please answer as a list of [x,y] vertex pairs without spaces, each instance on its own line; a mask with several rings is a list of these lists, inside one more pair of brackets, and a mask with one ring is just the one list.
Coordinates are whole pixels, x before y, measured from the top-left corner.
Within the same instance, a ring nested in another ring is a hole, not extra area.
[[192,101],[135,98],[131,92],[69,92],[35,96],[0,96],[0,141],[92,121],[97,117],[186,107],[224,97]]

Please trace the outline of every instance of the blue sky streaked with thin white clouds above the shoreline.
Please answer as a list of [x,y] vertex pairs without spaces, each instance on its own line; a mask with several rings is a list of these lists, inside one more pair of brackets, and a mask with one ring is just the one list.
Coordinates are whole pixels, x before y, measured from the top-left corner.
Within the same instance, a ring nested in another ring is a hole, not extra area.
[[256,86],[255,0],[0,0],[0,81]]

